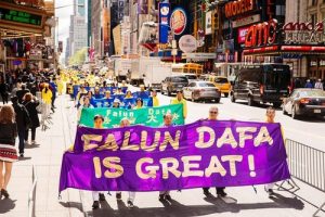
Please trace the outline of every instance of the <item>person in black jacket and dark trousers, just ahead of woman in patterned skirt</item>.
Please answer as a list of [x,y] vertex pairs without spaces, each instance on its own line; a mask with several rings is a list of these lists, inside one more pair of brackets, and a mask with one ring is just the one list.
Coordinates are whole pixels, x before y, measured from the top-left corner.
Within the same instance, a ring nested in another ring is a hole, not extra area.
[[15,119],[17,123],[17,131],[18,131],[18,139],[20,139],[20,155],[21,157],[24,157],[25,133],[26,133],[26,129],[29,128],[31,122],[26,107],[18,102],[17,97],[12,97],[11,102],[16,114]]

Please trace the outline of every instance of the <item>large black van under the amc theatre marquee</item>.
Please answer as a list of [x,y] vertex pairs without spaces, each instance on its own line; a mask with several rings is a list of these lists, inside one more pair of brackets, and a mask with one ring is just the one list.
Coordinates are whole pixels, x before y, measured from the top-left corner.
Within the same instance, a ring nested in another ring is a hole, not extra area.
[[249,65],[242,68],[232,84],[231,101],[247,100],[248,105],[273,103],[280,107],[290,93],[290,68],[284,64]]

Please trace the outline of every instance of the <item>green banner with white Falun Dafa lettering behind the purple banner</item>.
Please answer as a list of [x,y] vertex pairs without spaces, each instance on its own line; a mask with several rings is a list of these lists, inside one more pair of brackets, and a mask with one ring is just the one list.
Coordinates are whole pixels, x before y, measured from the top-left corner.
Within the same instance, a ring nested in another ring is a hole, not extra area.
[[162,125],[164,115],[171,113],[173,116],[173,124],[183,125],[183,105],[173,104],[159,107],[144,107],[140,110],[125,110],[125,108],[83,108],[80,117],[80,125],[93,127],[93,117],[102,115],[105,128],[118,127],[122,118],[128,118],[132,125],[144,125],[148,127],[159,127]]

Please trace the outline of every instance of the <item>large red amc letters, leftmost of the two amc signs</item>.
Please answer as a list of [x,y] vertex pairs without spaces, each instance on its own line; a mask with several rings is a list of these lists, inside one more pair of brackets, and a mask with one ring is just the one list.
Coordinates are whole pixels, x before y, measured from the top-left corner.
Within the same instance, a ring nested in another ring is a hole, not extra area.
[[271,20],[268,23],[259,23],[249,27],[245,38],[245,47],[260,47],[272,44],[276,39],[277,21]]

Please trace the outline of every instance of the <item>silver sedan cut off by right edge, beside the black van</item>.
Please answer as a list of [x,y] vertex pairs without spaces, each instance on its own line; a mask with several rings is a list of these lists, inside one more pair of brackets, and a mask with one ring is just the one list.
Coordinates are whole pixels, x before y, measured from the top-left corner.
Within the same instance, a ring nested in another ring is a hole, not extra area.
[[290,114],[294,119],[299,116],[325,116],[325,91],[320,89],[295,89],[283,101],[283,113]]

